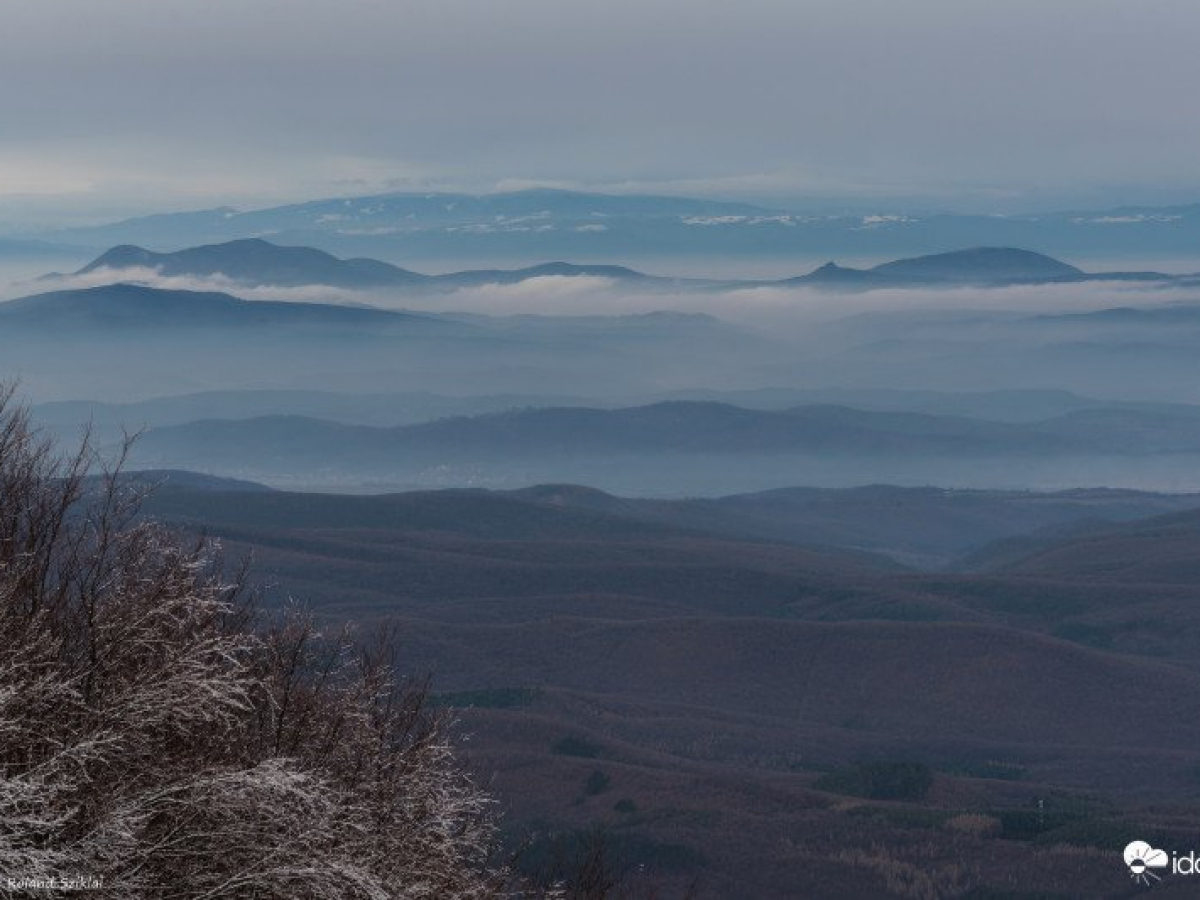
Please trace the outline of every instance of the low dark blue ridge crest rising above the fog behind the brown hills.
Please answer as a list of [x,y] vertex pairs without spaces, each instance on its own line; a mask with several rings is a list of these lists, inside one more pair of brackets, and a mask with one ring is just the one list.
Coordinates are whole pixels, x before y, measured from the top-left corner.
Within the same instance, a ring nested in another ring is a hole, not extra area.
[[[1198,420],[1200,428],[1200,420]],[[302,416],[200,421],[151,431],[143,454],[186,452],[193,461],[256,456],[304,464],[482,463],[626,454],[1054,452],[1081,449],[1069,436],[1030,427],[845,407],[781,412],[724,403],[656,403],[628,409],[515,409],[396,428],[346,426]]]

